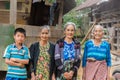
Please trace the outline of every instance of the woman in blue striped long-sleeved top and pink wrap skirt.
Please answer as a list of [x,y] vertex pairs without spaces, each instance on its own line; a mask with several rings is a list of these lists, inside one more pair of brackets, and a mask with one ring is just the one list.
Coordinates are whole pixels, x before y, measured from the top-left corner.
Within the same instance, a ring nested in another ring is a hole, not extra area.
[[110,80],[110,45],[102,40],[103,35],[103,27],[96,25],[93,29],[93,39],[85,43],[83,80]]

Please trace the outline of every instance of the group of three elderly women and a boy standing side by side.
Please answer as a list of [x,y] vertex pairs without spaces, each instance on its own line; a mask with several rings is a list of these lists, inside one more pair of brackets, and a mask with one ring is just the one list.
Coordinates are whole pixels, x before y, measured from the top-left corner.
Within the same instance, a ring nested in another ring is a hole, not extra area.
[[14,32],[15,42],[7,46],[3,56],[8,64],[6,80],[27,80],[26,64],[30,64],[31,80],[78,80],[81,61],[82,80],[110,80],[110,45],[102,40],[103,27],[94,27],[93,39],[86,41],[83,57],[80,42],[74,39],[75,31],[76,25],[67,22],[64,37],[54,45],[49,42],[49,27],[43,26],[40,40],[28,49],[23,44],[25,30],[17,28]]

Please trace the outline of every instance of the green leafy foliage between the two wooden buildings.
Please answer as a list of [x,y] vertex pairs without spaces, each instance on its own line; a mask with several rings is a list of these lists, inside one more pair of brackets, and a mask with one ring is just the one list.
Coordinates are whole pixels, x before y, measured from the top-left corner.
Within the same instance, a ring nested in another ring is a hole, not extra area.
[[[84,1],[85,0],[76,0],[77,6],[82,4]],[[80,40],[83,39],[83,37],[85,36],[85,33],[88,31],[88,27],[89,27],[88,26],[89,25],[88,13],[89,13],[89,11],[90,11],[89,9],[84,9],[81,11],[75,11],[75,9],[73,9],[72,11],[70,11],[69,13],[64,15],[64,17],[63,17],[63,25],[66,22],[74,22],[76,24],[77,28],[81,29],[81,32],[79,34]]]

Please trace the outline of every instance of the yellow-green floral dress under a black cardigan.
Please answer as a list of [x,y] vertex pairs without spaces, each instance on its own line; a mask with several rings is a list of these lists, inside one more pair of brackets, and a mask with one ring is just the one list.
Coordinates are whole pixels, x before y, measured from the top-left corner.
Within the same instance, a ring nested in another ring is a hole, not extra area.
[[49,62],[50,55],[48,49],[50,44],[47,43],[46,46],[39,46],[40,55],[37,62],[36,78],[37,80],[49,80]]

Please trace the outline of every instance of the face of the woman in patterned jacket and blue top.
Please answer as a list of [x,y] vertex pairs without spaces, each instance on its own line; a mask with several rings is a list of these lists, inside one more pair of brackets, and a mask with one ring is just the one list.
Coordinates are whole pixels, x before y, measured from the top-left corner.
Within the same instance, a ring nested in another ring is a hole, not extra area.
[[73,25],[68,25],[65,29],[65,36],[69,39],[73,38],[75,33],[75,27]]

